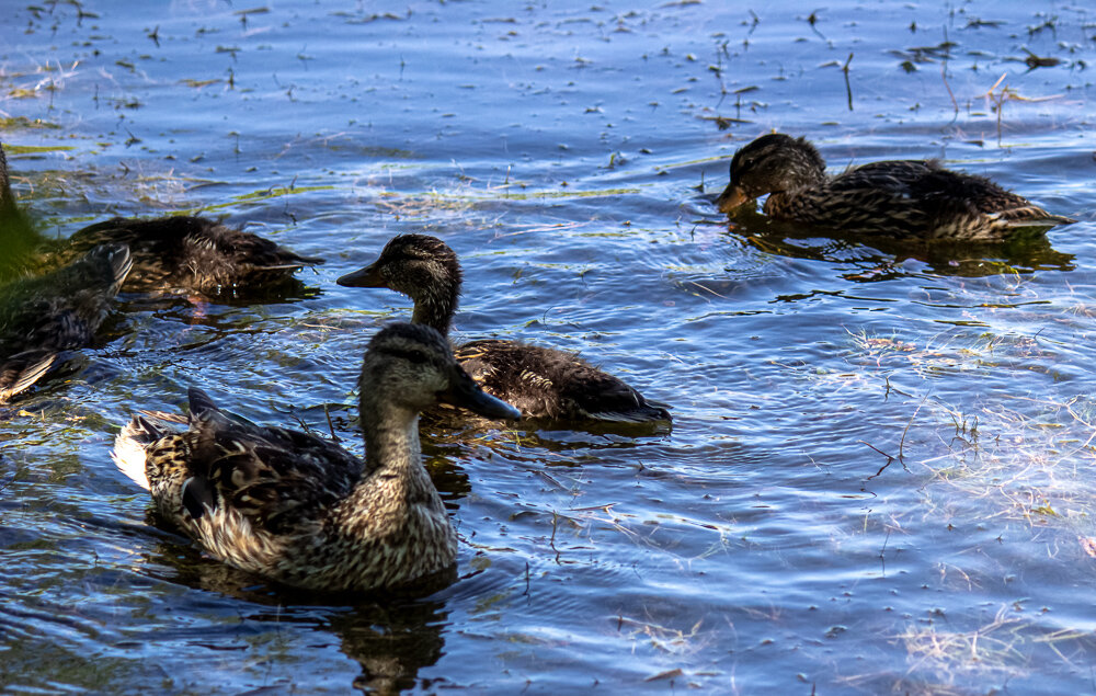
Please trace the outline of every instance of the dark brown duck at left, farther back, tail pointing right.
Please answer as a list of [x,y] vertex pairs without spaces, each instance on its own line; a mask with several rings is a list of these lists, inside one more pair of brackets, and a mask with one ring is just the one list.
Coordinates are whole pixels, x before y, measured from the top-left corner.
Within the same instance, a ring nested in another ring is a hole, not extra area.
[[[2,149],[0,144],[0,225],[15,219],[10,212],[18,213]],[[20,219],[25,224],[25,218]],[[99,244],[126,244],[134,267],[122,289],[129,293],[248,294],[323,263],[323,259],[295,253],[259,235],[192,215],[114,217],[80,229],[61,243],[48,242],[36,233],[20,238],[34,240],[39,255],[49,255],[54,265],[70,262]]]

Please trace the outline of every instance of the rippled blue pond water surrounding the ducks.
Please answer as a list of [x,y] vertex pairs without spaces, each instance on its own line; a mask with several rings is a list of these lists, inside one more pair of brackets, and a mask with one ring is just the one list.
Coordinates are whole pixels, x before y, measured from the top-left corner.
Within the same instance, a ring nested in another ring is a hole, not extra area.
[[[4,413],[0,689],[1092,692],[1082,7],[9,8],[2,139],[44,232],[201,210],[328,263],[272,304],[123,296]],[[700,191],[773,128],[1081,221],[955,249],[728,226]],[[461,537],[426,598],[287,593],[153,526],[110,447],[187,385],[359,448],[362,349],[409,304],[334,278],[412,230],[461,255],[463,338],[581,351],[673,431],[425,432]]]

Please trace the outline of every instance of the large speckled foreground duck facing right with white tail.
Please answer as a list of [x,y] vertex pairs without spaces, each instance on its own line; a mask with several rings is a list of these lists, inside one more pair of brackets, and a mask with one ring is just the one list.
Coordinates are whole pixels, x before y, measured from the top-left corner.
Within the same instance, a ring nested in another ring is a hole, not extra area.
[[364,460],[312,434],[230,418],[194,387],[186,417],[134,415],[113,459],[164,520],[237,569],[332,592],[429,582],[453,567],[457,536],[422,465],[419,412],[441,401],[493,419],[521,413],[421,324],[378,331],[358,387]]

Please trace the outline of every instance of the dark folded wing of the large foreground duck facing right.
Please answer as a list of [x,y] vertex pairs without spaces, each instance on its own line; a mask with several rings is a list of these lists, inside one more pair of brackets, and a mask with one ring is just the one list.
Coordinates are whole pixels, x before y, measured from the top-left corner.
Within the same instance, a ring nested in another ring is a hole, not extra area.
[[329,441],[229,419],[196,388],[189,396],[189,430],[149,444],[145,461],[161,511],[183,526],[231,510],[283,534],[320,517],[362,477],[362,460]]

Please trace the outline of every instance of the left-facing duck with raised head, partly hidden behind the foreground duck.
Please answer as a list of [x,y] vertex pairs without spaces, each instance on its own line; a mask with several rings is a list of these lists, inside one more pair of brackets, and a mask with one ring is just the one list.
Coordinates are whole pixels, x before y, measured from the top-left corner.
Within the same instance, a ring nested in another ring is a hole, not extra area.
[[[448,335],[460,295],[457,254],[436,237],[399,235],[372,264],[340,277],[345,287],[387,287],[414,301],[413,323]],[[671,422],[665,406],[573,353],[483,339],[454,349],[457,361],[490,395],[526,419],[617,423]]]

